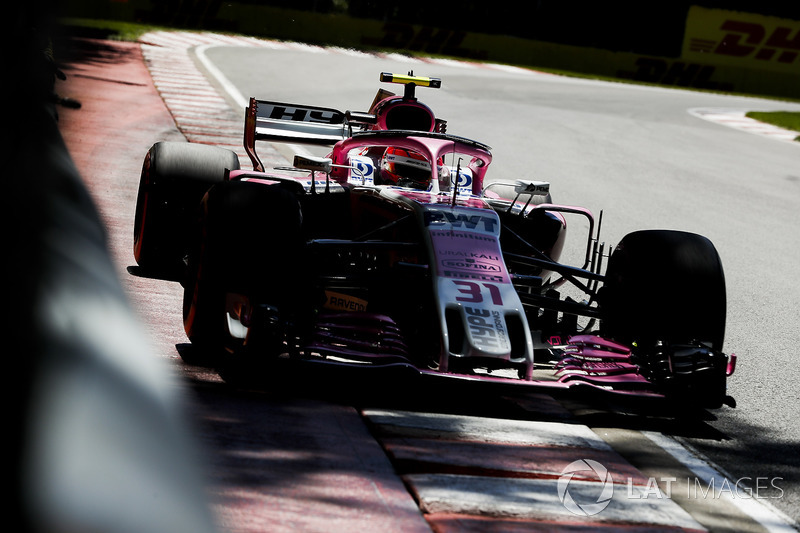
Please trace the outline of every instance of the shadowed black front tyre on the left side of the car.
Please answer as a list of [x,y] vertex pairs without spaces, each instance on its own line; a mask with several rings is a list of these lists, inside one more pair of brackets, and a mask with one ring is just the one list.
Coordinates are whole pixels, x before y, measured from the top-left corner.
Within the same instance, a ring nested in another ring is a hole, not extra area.
[[184,360],[229,366],[244,347],[229,327],[236,306],[269,306],[283,314],[299,291],[300,206],[279,186],[220,183],[203,198],[195,235],[183,301],[193,349]]

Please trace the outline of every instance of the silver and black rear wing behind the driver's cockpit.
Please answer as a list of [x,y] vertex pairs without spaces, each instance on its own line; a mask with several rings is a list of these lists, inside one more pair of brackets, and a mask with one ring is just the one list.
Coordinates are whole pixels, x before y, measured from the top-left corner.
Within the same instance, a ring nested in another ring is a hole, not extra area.
[[367,113],[250,98],[244,121],[244,149],[253,169],[263,172],[256,141],[332,146],[350,137],[354,124],[360,127],[374,122],[375,117]]

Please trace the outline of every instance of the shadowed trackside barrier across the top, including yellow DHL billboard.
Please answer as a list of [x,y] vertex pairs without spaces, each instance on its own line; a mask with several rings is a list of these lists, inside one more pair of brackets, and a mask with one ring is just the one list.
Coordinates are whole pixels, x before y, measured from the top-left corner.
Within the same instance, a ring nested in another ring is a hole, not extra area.
[[68,0],[62,13],[74,18],[204,28],[354,49],[407,50],[667,86],[800,98],[800,21],[697,6],[689,9],[680,57],[642,56],[213,0]]

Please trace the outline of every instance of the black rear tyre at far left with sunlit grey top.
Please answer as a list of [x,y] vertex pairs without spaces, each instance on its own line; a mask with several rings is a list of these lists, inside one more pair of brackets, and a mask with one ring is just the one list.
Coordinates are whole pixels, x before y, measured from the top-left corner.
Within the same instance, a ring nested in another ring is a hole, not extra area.
[[236,153],[202,144],[159,142],[145,156],[133,229],[133,255],[169,277],[184,268],[187,231],[206,191],[239,169]]

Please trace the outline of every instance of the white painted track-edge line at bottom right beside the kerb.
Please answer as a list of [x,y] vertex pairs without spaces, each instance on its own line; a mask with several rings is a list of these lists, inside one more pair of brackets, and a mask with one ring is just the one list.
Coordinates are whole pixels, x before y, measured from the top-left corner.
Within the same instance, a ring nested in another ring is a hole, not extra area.
[[767,531],[797,533],[799,525],[794,520],[764,499],[751,497],[744,489],[737,491],[736,481],[733,481],[730,475],[725,475],[711,466],[710,462],[703,459],[698,452],[690,451],[685,445],[661,433],[643,431],[642,434],[691,470],[706,489],[709,487],[712,490],[723,489],[719,490],[719,493],[714,491],[714,496],[727,499]]

